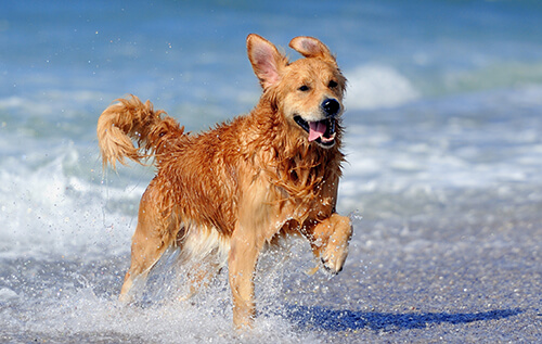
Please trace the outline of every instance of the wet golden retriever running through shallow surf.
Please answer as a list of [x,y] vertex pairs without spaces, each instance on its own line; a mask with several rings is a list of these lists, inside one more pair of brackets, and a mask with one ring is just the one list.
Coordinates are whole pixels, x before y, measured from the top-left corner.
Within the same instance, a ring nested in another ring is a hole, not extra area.
[[350,219],[336,213],[346,78],[315,38],[289,42],[304,56],[294,62],[258,35],[246,43],[262,87],[249,114],[190,133],[131,95],[98,120],[104,168],[149,157],[157,168],[141,198],[125,303],[169,247],[192,262],[193,292],[228,265],[236,328],[253,324],[258,256],[278,238],[305,237],[325,269],[343,269],[352,233]]

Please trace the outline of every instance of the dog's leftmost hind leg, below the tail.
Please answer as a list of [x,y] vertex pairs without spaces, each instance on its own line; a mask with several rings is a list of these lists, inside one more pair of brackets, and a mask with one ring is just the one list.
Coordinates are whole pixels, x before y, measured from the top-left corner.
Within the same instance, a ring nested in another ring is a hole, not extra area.
[[144,281],[151,268],[172,244],[171,238],[176,237],[178,230],[173,225],[170,218],[163,218],[163,214],[156,207],[156,192],[151,184],[141,199],[138,226],[132,237],[131,265],[120,290],[121,302],[132,301],[130,290],[133,282]]

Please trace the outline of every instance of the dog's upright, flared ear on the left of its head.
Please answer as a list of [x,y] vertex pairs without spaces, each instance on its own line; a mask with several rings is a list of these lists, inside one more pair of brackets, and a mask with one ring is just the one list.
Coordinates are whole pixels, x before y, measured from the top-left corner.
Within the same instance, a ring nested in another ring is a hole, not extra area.
[[281,79],[282,68],[287,65],[287,60],[273,43],[263,37],[250,34],[246,38],[246,50],[254,73],[263,89]]

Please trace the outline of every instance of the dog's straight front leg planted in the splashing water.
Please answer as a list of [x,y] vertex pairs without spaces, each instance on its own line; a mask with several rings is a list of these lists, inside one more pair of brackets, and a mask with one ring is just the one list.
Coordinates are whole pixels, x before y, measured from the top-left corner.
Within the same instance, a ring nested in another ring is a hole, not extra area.
[[230,242],[229,272],[233,298],[233,323],[237,329],[250,327],[256,313],[254,271],[260,252],[254,230],[237,227]]

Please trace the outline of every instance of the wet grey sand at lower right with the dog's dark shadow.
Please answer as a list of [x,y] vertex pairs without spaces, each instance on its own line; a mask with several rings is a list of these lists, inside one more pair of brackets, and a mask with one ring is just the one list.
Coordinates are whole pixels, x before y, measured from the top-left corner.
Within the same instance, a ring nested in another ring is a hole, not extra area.
[[358,219],[351,256],[363,262],[289,317],[324,342],[541,343],[540,195],[470,191],[425,214]]

